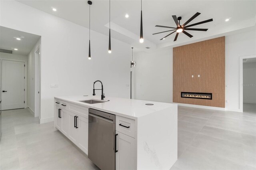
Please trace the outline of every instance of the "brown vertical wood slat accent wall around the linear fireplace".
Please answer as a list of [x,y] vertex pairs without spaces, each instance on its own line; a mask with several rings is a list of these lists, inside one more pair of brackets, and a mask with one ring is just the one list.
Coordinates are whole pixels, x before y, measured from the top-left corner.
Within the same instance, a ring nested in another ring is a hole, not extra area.
[[[212,93],[212,100],[181,92]],[[173,48],[173,102],[225,107],[225,37]]]

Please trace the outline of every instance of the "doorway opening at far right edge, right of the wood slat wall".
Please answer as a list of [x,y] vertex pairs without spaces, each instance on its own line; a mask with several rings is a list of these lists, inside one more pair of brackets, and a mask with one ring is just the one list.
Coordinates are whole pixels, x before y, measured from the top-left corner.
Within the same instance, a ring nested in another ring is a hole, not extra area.
[[240,57],[240,110],[256,114],[256,55]]

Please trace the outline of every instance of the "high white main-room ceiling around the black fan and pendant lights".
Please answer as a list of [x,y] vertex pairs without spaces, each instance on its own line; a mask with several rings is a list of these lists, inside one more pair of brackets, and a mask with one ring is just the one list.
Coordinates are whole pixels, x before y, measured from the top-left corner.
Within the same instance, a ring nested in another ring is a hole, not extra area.
[[[88,28],[89,5],[87,0],[18,0],[19,2],[64,18]],[[91,29],[108,36],[109,1],[92,0]],[[53,12],[52,8],[57,11]],[[139,43],[140,34],[140,0],[111,0],[112,37],[131,44],[136,48],[168,47],[192,42],[216,35],[255,26],[256,1],[254,0],[143,0],[143,33],[144,43]],[[188,31],[194,37],[179,34],[173,42],[175,34],[165,40],[161,38],[168,33],[152,35],[168,28],[156,28],[155,25],[175,27],[172,15],[182,16],[181,24],[186,22],[196,12],[201,14],[190,24],[213,18],[213,22],[194,26],[193,28],[208,28],[207,32]],[[125,18],[125,14],[129,18]],[[229,22],[225,22],[230,18]],[[146,49],[145,49],[146,50]]]

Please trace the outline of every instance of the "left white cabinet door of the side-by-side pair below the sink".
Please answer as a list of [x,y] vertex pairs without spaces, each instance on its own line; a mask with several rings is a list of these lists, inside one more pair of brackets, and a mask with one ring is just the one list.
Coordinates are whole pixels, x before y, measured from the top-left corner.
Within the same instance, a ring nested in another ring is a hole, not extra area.
[[69,112],[68,113],[68,138],[74,142],[74,144],[77,143],[77,135],[78,135],[78,130],[75,127],[75,122],[76,122],[76,114]]

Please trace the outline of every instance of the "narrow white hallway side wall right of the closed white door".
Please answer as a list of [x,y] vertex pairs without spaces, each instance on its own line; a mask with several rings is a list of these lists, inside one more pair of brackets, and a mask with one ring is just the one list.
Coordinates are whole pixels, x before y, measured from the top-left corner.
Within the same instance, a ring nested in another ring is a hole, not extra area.
[[40,44],[41,39],[38,40],[28,54],[27,105],[33,112],[35,111],[35,52]]

